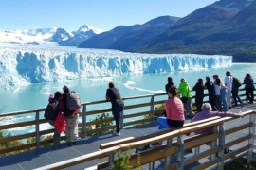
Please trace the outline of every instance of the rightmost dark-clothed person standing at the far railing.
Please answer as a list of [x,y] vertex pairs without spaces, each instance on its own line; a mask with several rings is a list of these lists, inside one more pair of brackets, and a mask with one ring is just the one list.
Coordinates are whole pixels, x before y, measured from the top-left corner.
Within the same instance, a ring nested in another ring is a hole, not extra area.
[[253,91],[255,89],[255,86],[252,76],[248,73],[244,79],[244,84],[246,89],[247,100],[249,100],[248,104],[252,104],[254,101]]

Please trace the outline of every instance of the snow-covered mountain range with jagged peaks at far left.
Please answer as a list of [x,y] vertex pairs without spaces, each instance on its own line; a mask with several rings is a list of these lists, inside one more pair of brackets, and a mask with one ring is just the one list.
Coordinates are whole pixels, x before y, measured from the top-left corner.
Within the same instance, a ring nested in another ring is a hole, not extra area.
[[0,30],[0,43],[77,46],[86,39],[101,33],[92,26],[82,26],[77,31],[64,28],[34,28],[29,30]]

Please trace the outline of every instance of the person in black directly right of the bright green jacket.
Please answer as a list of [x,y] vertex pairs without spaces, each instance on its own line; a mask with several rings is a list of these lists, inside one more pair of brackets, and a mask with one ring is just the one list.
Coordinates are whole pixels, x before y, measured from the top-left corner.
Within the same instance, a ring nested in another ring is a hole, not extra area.
[[203,79],[199,78],[197,83],[193,86],[192,90],[195,91],[195,106],[197,108],[197,111],[201,111],[201,107],[203,105],[203,100],[205,97],[205,86]]

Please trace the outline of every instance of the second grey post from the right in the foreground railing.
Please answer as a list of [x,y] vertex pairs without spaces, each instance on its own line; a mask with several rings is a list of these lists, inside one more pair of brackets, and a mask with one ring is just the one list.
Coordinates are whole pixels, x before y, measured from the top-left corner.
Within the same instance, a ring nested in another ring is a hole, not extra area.
[[222,170],[224,168],[224,149],[225,149],[225,129],[224,122],[219,126],[219,153],[218,153],[218,165],[217,169]]

